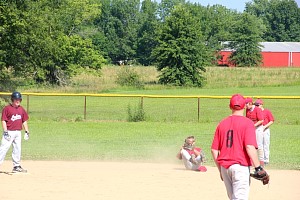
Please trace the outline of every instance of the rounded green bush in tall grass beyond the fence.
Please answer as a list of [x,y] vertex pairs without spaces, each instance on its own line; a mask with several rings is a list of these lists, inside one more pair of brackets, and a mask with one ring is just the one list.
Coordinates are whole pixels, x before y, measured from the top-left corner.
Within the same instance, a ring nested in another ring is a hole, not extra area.
[[130,67],[121,67],[117,74],[116,83],[121,86],[131,86],[138,89],[144,88],[141,76]]

